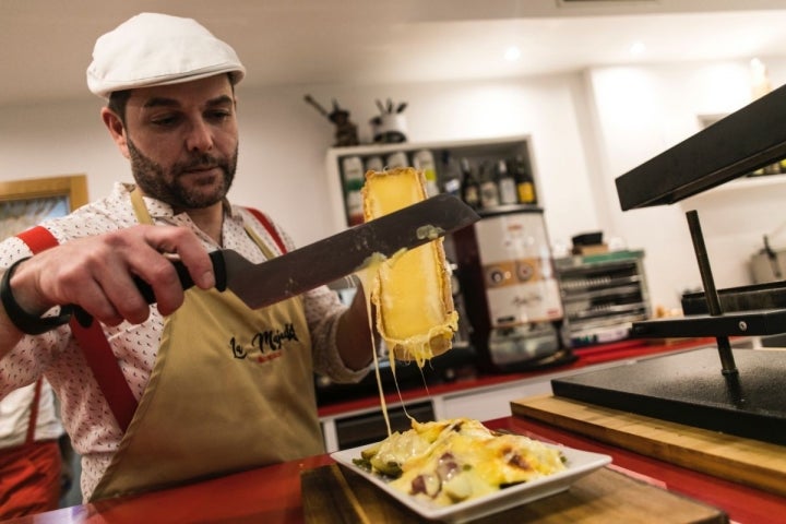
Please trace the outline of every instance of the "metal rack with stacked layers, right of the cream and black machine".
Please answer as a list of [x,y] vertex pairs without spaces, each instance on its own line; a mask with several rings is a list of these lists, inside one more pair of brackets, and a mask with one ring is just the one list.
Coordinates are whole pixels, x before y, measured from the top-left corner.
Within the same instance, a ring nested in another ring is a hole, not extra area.
[[632,322],[650,318],[643,258],[643,251],[615,251],[555,260],[565,345],[627,338]]

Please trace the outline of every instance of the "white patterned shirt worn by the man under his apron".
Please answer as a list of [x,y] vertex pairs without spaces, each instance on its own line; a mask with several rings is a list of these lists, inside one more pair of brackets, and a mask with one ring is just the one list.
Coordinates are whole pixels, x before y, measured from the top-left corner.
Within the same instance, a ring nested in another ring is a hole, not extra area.
[[[130,200],[132,189],[131,184],[117,183],[106,199],[87,204],[67,217],[55,218],[41,225],[60,243],[136,225]],[[150,198],[145,198],[145,204],[156,225],[189,227],[199,235],[207,250],[218,248],[207,235],[196,228],[187,214],[175,215],[169,205]],[[264,254],[248,236],[243,224],[250,225],[273,252],[278,252],[273,238],[257,218],[247,210],[230,205],[227,205],[225,211],[222,248],[233,249],[254,263],[264,260]],[[293,249],[291,239],[275,227],[287,249]],[[29,254],[29,249],[19,238],[9,238],[0,243],[0,267],[8,267]],[[335,382],[359,380],[366,371],[346,368],[336,349],[337,319],[346,309],[337,295],[326,287],[318,288],[303,295],[303,306],[311,331],[314,371]],[[107,340],[136,400],[141,398],[150,379],[163,325],[163,317],[153,307],[150,318],[142,324],[104,326]],[[0,359],[0,398],[17,388],[33,383],[41,374],[57,392],[63,424],[74,450],[82,455],[82,493],[86,500],[118,449],[122,431],[68,325],[43,335],[25,336],[9,355]]]

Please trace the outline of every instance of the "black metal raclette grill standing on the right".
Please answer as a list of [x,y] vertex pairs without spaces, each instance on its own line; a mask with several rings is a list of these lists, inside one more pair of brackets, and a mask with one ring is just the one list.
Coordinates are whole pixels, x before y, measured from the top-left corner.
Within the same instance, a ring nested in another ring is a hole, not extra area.
[[[781,87],[617,178],[623,211],[670,204],[786,157]],[[634,322],[641,337],[715,337],[716,348],[558,379],[556,395],[786,443],[786,352],[733,350],[729,337],[786,332],[784,283],[716,289],[695,211],[687,213],[703,291],[683,318]]]

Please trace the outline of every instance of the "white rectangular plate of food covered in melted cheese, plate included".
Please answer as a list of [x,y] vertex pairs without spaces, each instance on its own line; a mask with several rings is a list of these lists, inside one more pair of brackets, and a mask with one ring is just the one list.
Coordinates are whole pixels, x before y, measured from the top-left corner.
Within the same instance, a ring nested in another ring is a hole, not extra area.
[[407,431],[331,456],[420,516],[453,524],[564,491],[611,462],[468,418],[413,420]]

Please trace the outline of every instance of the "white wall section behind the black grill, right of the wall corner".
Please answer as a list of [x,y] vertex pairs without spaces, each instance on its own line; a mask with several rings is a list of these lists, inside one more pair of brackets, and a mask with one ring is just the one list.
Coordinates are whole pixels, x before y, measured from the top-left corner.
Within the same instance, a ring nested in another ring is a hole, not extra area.
[[[786,73],[784,62],[767,60],[767,66],[777,87]],[[742,61],[606,68],[587,78],[606,194],[616,194],[615,178],[698,132],[700,116],[728,114],[751,100],[750,73]],[[716,286],[751,283],[748,260],[763,246],[763,235],[786,222],[786,187],[735,190],[733,183],[672,205],[624,213],[616,200],[608,206],[607,227],[646,251],[654,303],[677,306],[682,290],[701,288],[684,215],[690,210],[699,213]]]

